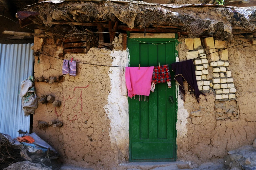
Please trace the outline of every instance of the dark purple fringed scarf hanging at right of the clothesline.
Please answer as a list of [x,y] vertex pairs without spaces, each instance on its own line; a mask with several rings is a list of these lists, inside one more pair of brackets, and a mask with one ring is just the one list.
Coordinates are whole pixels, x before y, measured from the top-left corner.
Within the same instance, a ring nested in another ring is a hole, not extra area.
[[189,91],[195,90],[196,100],[198,103],[200,100],[200,97],[199,97],[200,94],[204,95],[205,100],[207,101],[205,94],[202,92],[199,92],[198,90],[198,86],[196,82],[196,72],[195,72],[195,67],[192,59],[186,60],[183,62],[173,63],[171,64],[171,66],[172,66],[172,71],[175,72],[174,78],[179,84],[180,98],[183,101],[185,101],[185,89],[183,86],[183,81],[187,81]]

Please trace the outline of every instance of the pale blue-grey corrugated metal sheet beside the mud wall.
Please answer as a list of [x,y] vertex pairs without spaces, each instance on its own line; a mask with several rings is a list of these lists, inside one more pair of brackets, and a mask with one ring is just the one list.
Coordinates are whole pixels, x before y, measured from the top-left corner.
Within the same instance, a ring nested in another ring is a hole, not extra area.
[[0,44],[0,132],[21,136],[19,129],[29,132],[30,116],[22,110],[19,90],[21,82],[33,74],[33,44]]

